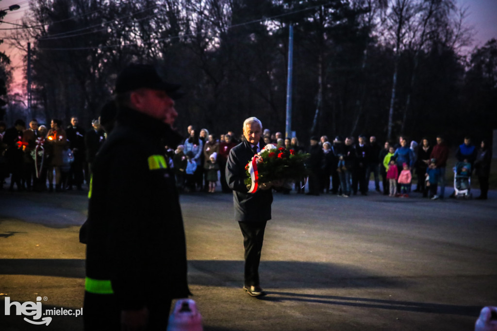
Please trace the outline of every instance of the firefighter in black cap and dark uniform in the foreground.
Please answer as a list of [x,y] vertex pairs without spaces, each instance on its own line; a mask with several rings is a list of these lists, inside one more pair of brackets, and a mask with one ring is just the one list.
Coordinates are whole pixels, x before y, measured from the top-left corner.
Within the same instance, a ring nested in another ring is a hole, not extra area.
[[164,146],[179,85],[151,65],[118,76],[117,124],[98,152],[89,191],[84,330],[166,330],[174,298],[187,297],[186,244]]

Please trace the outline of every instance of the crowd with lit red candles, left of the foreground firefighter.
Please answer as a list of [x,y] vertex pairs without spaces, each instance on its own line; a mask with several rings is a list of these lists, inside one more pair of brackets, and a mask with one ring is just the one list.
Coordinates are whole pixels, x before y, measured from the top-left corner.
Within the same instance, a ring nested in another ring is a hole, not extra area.
[[36,119],[29,121],[27,129],[21,119],[8,129],[0,122],[0,189],[10,176],[10,191],[14,185],[17,191],[83,190],[106,135],[98,119],[92,121],[90,130],[78,123],[76,116],[65,129],[56,118],[51,120],[50,129],[38,125]]

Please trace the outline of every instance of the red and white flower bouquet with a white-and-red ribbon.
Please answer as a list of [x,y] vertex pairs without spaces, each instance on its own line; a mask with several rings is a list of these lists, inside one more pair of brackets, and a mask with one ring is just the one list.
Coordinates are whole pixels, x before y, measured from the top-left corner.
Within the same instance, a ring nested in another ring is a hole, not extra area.
[[271,181],[290,183],[306,177],[308,169],[305,161],[308,158],[309,154],[296,153],[284,147],[264,146],[245,166],[248,193],[255,193],[261,184]]

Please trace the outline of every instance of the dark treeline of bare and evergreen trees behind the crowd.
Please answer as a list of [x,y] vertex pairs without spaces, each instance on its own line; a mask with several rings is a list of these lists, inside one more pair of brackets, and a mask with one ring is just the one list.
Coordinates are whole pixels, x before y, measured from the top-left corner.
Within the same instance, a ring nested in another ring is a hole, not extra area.
[[32,113],[89,126],[131,61],[186,92],[177,125],[284,131],[294,25],[292,130],[459,141],[497,128],[497,42],[463,56],[454,0],[33,0],[14,44],[32,42]]

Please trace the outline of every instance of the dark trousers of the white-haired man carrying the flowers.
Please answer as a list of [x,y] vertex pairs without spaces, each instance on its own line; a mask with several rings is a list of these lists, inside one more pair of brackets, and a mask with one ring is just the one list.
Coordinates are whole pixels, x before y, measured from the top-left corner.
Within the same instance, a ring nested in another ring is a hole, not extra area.
[[245,248],[245,286],[259,284],[259,262],[266,221],[238,222],[244,236]]

